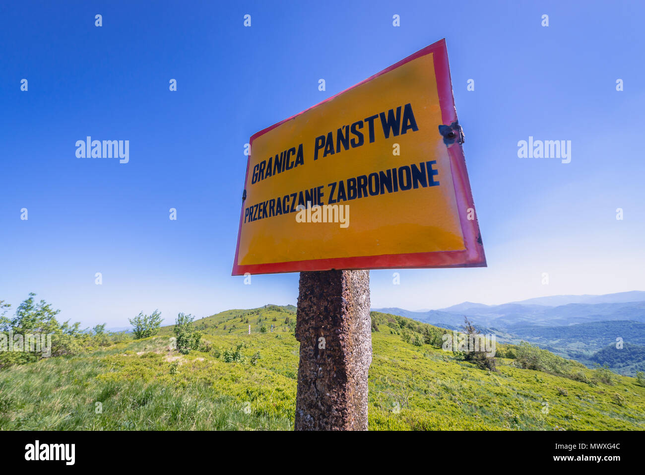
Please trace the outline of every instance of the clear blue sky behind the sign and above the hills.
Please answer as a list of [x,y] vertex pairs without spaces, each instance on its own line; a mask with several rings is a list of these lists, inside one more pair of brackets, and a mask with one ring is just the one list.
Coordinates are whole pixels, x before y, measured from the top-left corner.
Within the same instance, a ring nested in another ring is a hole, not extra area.
[[[36,292],[61,319],[108,327],[155,308],[172,323],[295,304],[297,273],[230,276],[244,143],[443,37],[488,268],[401,270],[401,285],[373,271],[372,307],[644,290],[644,13],[593,1],[3,5],[0,299],[15,308]],[[86,136],[130,140],[129,163],[77,158]],[[529,136],[571,140],[571,163],[519,158]]]

